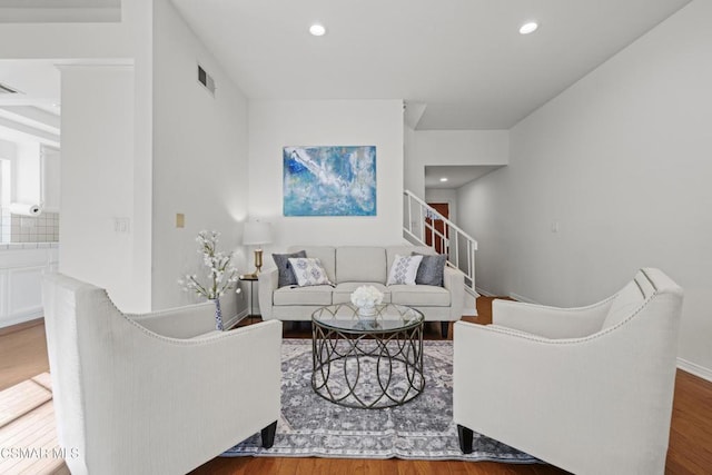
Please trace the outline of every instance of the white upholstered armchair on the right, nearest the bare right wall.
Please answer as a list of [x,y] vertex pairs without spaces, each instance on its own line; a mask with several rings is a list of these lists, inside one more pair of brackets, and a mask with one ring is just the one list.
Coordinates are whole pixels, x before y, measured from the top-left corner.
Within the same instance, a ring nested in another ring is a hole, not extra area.
[[606,300],[495,300],[493,325],[454,330],[454,414],[473,431],[576,474],[662,474],[682,289],[641,269]]

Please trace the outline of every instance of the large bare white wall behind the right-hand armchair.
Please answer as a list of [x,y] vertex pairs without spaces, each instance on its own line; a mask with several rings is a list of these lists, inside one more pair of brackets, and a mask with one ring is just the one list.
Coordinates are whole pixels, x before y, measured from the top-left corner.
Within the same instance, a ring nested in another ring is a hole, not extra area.
[[683,365],[708,377],[710,18],[693,1],[606,61],[514,127],[510,166],[459,194],[485,289],[582,305],[660,267],[685,290]]

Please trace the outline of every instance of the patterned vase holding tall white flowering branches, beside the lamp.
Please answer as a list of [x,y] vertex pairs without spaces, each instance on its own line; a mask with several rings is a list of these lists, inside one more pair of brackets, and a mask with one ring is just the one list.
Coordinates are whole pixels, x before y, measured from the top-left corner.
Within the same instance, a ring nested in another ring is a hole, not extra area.
[[202,264],[208,268],[206,283],[201,284],[196,274],[187,274],[185,278],[178,280],[178,284],[184,290],[196,293],[215,303],[215,328],[221,331],[224,327],[220,297],[233,288],[237,294],[240,289],[237,287],[239,274],[230,264],[233,254],[217,251],[219,236],[218,231],[200,231],[196,238],[198,254],[202,254]]

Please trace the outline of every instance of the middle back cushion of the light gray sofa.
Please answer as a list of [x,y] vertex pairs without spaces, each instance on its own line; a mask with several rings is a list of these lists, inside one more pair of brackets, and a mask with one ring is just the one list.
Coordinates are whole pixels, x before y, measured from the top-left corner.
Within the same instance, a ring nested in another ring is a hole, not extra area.
[[337,283],[386,283],[383,247],[346,246],[336,249]]

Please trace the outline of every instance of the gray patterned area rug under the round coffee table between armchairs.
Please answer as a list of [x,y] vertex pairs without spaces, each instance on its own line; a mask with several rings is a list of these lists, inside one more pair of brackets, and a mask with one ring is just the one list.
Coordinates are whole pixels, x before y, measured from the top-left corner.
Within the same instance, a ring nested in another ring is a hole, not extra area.
[[474,451],[459,451],[453,423],[453,344],[424,342],[425,389],[399,407],[356,409],[330,403],[312,389],[312,342],[281,344],[281,417],[275,445],[263,448],[259,434],[222,456],[538,461],[485,436]]

